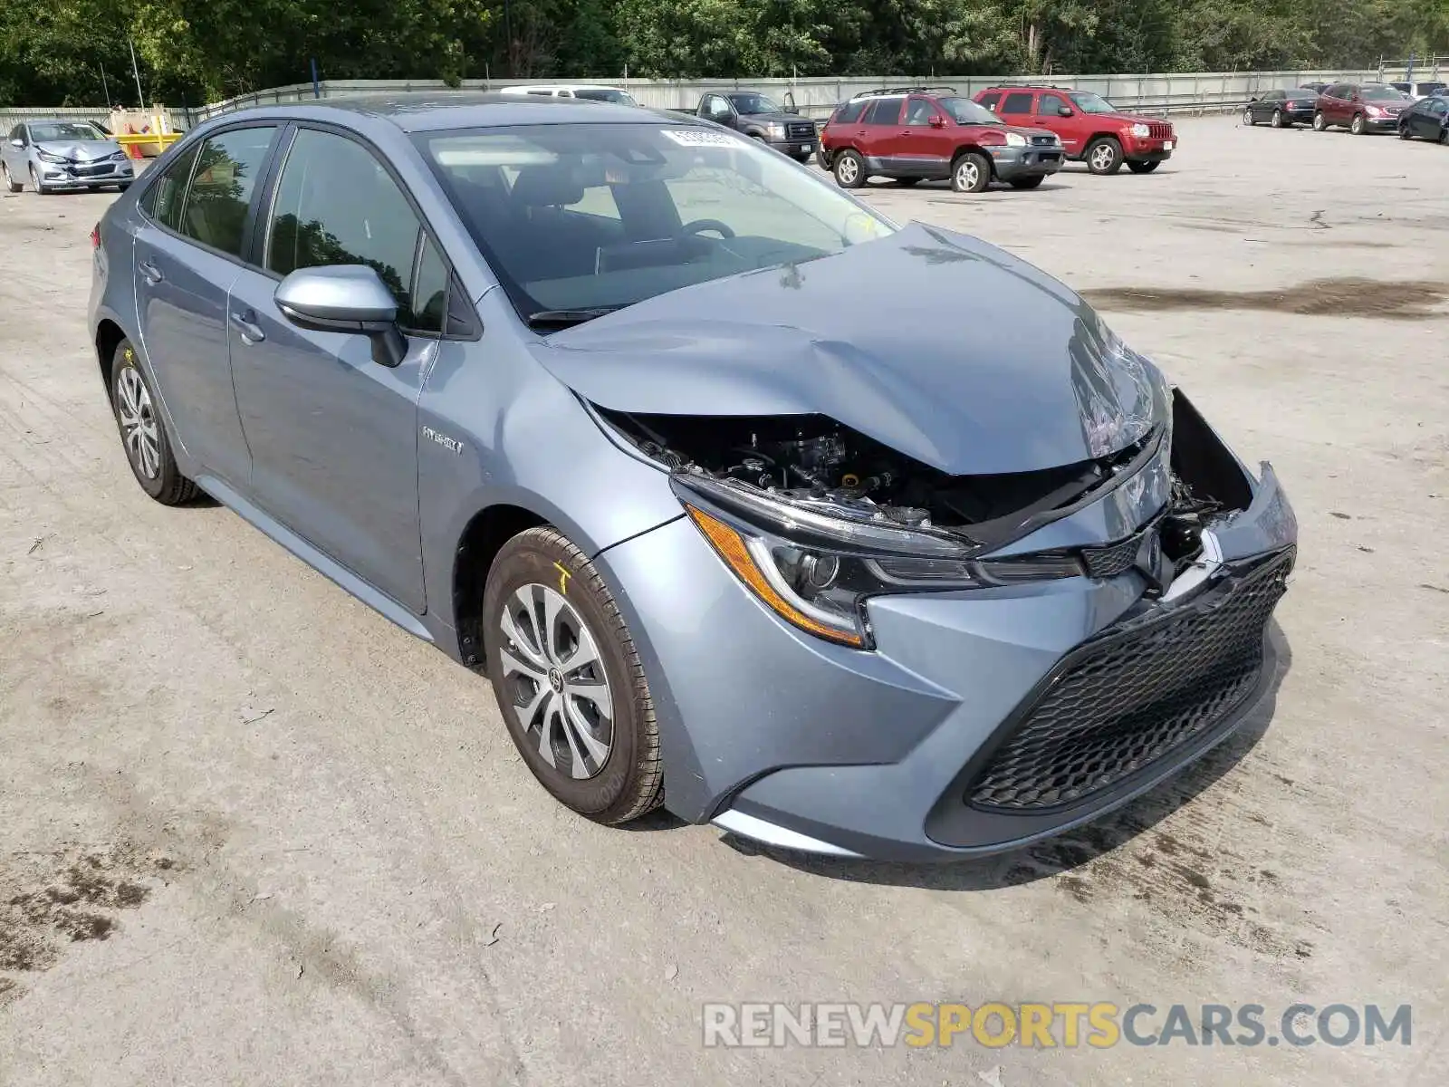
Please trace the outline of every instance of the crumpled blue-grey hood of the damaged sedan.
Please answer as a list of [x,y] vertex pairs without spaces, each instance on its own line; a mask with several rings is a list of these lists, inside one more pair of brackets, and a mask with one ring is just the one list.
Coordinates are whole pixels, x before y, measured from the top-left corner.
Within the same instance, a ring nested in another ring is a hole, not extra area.
[[1161,374],[1075,293],[920,225],[668,291],[530,349],[601,407],[819,413],[951,475],[1106,457],[1168,417]]

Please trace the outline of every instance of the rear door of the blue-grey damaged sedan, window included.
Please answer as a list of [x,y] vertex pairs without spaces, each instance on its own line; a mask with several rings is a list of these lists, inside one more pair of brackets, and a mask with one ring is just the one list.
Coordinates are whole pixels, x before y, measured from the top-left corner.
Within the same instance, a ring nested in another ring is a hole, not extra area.
[[136,319],[177,441],[233,484],[251,455],[236,417],[226,293],[241,272],[275,125],[226,129],[172,161],[141,199]]

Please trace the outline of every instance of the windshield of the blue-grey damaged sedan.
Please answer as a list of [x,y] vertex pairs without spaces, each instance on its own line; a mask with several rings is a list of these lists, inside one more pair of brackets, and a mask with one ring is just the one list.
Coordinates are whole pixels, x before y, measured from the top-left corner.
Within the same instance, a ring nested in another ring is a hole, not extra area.
[[729,132],[535,125],[416,139],[526,320],[587,319],[895,229]]

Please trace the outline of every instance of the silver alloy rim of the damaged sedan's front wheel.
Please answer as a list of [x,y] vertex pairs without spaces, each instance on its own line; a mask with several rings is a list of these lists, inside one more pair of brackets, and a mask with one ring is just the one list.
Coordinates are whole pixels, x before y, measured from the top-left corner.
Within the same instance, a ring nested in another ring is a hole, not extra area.
[[614,739],[614,703],[598,644],[556,590],[514,590],[498,617],[498,658],[511,694],[509,712],[555,771],[597,775]]

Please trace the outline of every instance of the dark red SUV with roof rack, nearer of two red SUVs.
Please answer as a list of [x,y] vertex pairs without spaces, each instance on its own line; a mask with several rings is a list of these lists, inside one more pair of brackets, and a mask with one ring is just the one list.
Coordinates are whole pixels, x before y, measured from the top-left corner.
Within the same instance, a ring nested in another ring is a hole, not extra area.
[[820,162],[840,188],[871,177],[903,186],[951,178],[958,193],[980,193],[993,181],[1036,188],[1062,168],[1062,143],[1051,132],[1003,125],[949,88],[897,87],[838,106],[820,133]]

